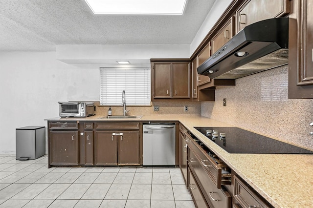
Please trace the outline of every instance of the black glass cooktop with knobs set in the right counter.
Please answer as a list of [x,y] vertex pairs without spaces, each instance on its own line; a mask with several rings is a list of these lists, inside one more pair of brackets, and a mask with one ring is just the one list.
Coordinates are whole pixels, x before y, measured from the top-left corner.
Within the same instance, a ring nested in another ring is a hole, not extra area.
[[[237,127],[194,127],[228,153],[313,154],[293,146]],[[207,133],[208,132],[208,133]]]

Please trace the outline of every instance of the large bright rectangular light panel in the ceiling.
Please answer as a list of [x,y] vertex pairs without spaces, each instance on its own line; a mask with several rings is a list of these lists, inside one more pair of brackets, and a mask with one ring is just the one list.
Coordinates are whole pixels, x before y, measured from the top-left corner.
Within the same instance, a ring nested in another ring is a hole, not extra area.
[[187,0],[85,0],[95,15],[182,15]]

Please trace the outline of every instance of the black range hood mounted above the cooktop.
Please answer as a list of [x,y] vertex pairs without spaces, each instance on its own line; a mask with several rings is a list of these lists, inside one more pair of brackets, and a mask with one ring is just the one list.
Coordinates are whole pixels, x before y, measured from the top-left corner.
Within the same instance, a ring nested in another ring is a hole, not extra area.
[[289,18],[246,26],[203,62],[198,74],[211,79],[237,79],[288,64]]

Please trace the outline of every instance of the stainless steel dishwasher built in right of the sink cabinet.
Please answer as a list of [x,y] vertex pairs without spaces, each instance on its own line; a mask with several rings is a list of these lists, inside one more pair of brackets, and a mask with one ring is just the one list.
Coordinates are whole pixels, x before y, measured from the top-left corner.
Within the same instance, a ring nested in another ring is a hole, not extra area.
[[143,166],[175,166],[175,124],[143,125]]

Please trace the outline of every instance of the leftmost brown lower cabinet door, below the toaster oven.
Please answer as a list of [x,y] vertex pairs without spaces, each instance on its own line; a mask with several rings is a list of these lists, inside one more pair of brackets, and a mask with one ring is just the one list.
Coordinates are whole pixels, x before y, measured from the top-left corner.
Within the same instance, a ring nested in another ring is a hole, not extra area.
[[50,164],[78,165],[78,131],[50,131]]

